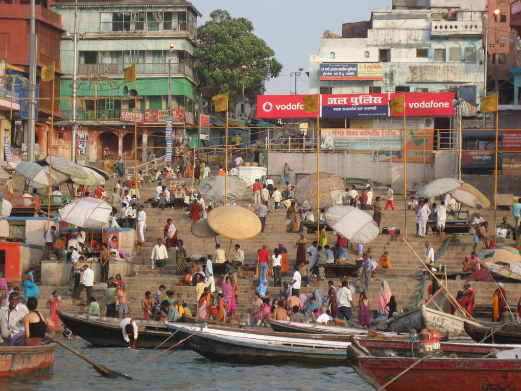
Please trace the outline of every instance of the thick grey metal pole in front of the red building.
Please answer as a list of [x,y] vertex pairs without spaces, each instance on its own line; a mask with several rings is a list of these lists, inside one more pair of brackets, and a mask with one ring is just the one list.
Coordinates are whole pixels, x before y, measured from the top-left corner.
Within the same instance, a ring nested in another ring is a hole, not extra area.
[[29,129],[27,135],[27,161],[34,162],[34,129],[36,122],[36,22],[35,0],[31,0],[30,43],[29,43],[29,80],[31,82],[29,104]]

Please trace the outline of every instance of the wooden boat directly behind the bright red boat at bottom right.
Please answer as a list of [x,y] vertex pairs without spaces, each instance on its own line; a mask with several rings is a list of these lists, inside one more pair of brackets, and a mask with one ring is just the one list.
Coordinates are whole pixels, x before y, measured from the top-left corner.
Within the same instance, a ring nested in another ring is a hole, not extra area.
[[[418,343],[411,343],[408,340],[400,339],[380,339],[356,337],[360,346],[367,349],[371,356],[375,357],[417,357]],[[468,342],[441,342],[441,350],[446,356],[456,355],[457,357],[482,358],[487,355],[503,358],[515,358],[521,353],[521,345],[497,345],[497,344],[475,344]]]

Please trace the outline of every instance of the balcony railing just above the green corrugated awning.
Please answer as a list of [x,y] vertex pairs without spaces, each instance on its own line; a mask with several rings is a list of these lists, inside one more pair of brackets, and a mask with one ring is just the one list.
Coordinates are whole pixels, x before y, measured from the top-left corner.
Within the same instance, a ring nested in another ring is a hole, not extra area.
[[[78,65],[79,75],[123,75],[123,68],[130,66],[130,64],[80,64]],[[172,74],[187,75],[194,78],[194,70],[185,62],[172,63]],[[168,74],[168,64],[166,63],[148,63],[136,64],[136,72],[138,75],[143,74]]]

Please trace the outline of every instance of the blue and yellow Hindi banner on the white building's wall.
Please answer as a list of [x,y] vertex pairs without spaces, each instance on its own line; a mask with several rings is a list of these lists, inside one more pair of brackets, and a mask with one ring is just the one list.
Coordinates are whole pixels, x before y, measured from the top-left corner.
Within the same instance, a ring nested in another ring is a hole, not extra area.
[[380,63],[322,63],[320,80],[383,80]]

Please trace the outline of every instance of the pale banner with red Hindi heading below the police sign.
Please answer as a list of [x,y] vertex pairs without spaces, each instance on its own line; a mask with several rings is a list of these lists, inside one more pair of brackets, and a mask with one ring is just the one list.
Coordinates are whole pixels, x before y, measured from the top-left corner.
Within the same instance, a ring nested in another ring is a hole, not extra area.
[[320,148],[400,151],[402,131],[399,129],[320,129]]

